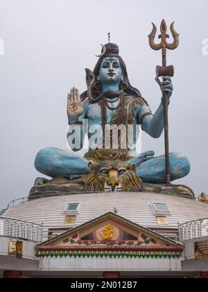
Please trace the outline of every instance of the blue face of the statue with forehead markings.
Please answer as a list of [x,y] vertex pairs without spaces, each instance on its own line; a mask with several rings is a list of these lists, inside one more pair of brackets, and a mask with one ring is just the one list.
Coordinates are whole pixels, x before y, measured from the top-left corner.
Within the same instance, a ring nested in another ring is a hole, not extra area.
[[122,70],[119,58],[107,57],[103,59],[100,69],[100,80],[102,84],[121,82]]

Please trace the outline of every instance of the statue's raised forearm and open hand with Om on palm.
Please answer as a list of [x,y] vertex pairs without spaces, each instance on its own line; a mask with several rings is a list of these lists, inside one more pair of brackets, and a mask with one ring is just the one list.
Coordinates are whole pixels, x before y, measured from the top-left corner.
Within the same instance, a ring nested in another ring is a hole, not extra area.
[[84,120],[87,119],[88,102],[81,102],[80,95],[76,88],[72,88],[68,95],[67,102],[67,115],[69,128],[67,131],[68,145],[74,152],[83,149],[85,138],[85,124]]

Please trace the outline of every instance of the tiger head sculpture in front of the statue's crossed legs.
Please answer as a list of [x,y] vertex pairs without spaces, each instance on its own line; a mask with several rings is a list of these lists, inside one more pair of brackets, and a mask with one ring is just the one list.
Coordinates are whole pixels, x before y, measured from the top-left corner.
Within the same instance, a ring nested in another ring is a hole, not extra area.
[[137,166],[123,161],[89,161],[89,175],[83,177],[85,191],[140,192],[143,181],[136,175]]

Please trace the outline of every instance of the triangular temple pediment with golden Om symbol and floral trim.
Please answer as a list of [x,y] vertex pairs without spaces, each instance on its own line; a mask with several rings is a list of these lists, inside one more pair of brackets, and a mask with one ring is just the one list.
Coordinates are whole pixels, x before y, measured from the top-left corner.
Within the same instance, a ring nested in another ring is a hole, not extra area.
[[180,257],[183,246],[114,213],[37,245],[37,257]]

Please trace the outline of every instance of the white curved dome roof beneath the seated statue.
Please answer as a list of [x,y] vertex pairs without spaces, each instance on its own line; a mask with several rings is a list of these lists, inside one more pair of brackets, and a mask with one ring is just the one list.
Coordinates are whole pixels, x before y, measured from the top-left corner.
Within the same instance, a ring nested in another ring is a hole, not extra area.
[[[80,202],[73,225],[64,225],[64,207],[68,202]],[[166,204],[169,216],[168,225],[158,225],[153,203]],[[77,227],[89,220],[114,212],[132,222],[148,228],[177,229],[178,223],[208,218],[208,205],[197,200],[174,195],[156,193],[86,193],[31,200],[13,206],[3,216],[44,223],[49,227]]]

